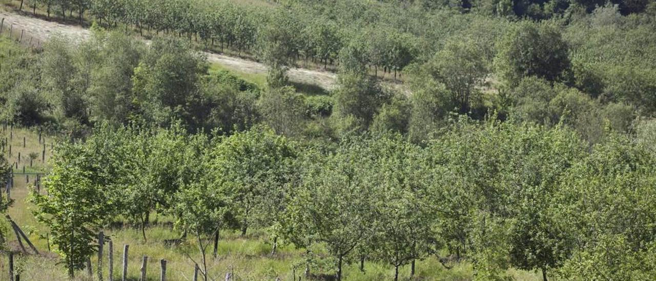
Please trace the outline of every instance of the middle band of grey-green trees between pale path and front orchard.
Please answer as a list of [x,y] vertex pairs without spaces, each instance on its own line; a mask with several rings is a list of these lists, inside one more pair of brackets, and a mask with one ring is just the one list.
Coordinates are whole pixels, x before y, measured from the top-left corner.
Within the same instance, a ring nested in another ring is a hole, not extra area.
[[[146,46],[120,32],[94,30],[75,47],[53,39],[43,53],[7,45],[5,53],[12,55],[0,70],[6,74],[0,79],[3,119],[63,129],[72,137],[82,137],[99,121],[167,127],[177,119],[189,131],[230,133],[264,121],[294,137],[334,140],[350,131],[391,129],[420,142],[452,113],[483,118],[497,112],[500,119],[550,126],[564,121],[596,142],[606,122],[615,131],[630,131],[636,115],[656,108],[647,72],[626,77],[640,79],[635,83],[607,76],[615,68],[634,73],[625,62],[594,72],[601,77],[583,72],[581,80],[575,78],[583,71],[577,65],[585,65],[579,60],[588,54],[572,62],[565,39],[550,24],[516,24],[497,33],[504,34],[497,48],[491,47],[494,40],[476,39],[476,32],[448,41],[426,62],[406,68],[409,96],[369,76],[367,49],[360,44],[340,52],[335,91],[304,97],[285,87],[292,62],[286,59],[291,49],[283,42],[290,32],[284,29],[268,30],[271,40],[262,45],[270,68],[267,89],[228,72],[210,72],[205,58],[182,39],[160,38]],[[503,83],[489,89],[495,77]]]

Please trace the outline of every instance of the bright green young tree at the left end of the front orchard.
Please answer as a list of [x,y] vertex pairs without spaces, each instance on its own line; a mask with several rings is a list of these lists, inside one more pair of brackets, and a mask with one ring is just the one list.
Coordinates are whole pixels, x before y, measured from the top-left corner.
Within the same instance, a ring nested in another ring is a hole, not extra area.
[[96,251],[97,231],[114,207],[108,204],[112,198],[106,188],[98,184],[94,173],[84,169],[94,165],[89,163],[91,158],[79,157],[84,153],[76,144],[58,147],[52,171],[43,182],[47,195],[31,194],[31,202],[37,206],[34,215],[50,228],[52,244],[71,278]]

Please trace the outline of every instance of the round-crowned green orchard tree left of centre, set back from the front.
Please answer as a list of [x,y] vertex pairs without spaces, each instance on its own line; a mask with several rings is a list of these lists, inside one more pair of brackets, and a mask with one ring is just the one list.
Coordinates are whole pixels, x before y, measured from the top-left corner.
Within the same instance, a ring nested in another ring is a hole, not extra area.
[[212,184],[229,194],[230,212],[241,235],[249,227],[274,225],[277,218],[269,211],[285,196],[289,165],[295,158],[293,146],[269,129],[253,127],[220,139],[210,154]]

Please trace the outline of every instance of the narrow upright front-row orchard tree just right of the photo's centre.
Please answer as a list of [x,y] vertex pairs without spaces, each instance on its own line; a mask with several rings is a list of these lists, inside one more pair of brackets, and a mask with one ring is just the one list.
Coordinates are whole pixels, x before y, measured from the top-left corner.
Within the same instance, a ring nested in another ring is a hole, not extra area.
[[428,196],[428,184],[422,150],[400,135],[388,135],[373,142],[380,154],[375,173],[373,212],[373,256],[394,266],[394,280],[399,267],[412,264],[438,246],[433,220],[436,217]]

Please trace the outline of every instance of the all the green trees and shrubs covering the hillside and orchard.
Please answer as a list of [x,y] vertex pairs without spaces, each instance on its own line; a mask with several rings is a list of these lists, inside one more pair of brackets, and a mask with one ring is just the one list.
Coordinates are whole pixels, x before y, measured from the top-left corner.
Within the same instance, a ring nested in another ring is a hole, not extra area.
[[[428,257],[476,280],[656,278],[655,2],[155,2],[26,1],[92,14],[91,39],[0,50],[3,119],[65,136],[31,202],[70,275],[95,232],[147,240],[161,213],[206,279],[209,241],[253,229],[337,279]],[[194,41],[253,54],[267,85]],[[289,82],[310,61],[333,91]]]

